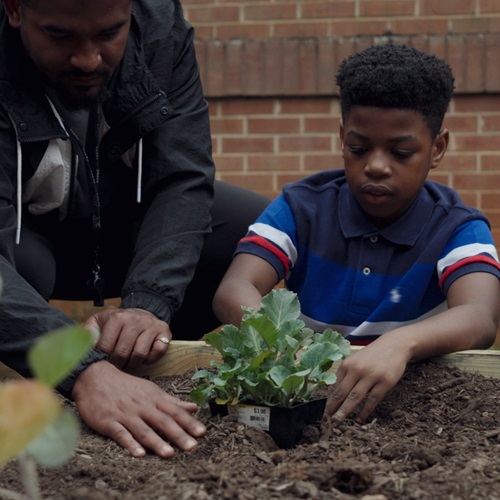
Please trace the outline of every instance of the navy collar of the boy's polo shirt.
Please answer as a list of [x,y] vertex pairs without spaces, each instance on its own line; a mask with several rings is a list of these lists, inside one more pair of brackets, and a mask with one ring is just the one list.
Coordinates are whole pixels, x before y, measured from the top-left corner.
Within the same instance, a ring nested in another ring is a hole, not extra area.
[[434,203],[424,188],[408,210],[391,225],[378,229],[354,198],[347,183],[339,193],[339,222],[345,238],[379,234],[397,245],[413,246],[431,217]]

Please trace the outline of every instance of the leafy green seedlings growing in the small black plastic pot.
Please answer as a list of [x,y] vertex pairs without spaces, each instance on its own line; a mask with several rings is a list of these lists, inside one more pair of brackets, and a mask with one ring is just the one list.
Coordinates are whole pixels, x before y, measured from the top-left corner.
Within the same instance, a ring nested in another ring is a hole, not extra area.
[[205,335],[222,355],[222,363],[198,370],[191,398],[199,405],[215,397],[219,404],[252,401],[266,406],[293,406],[310,399],[320,385],[336,380],[334,361],[349,355],[350,345],[331,329],[315,333],[305,327],[295,293],[276,289],[262,299],[261,308],[243,308],[238,329],[225,325]]

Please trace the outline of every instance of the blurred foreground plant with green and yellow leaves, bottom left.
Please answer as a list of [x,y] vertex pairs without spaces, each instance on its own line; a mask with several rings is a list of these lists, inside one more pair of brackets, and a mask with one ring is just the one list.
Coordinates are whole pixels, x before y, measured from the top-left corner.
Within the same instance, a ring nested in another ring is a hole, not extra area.
[[[91,333],[71,327],[41,337],[28,353],[33,380],[0,384],[0,467],[17,456],[27,497],[40,498],[34,463],[58,466],[73,453],[80,423],[62,408],[54,387],[64,380],[93,345]],[[33,465],[31,465],[33,464]],[[26,498],[0,490],[0,496]]]

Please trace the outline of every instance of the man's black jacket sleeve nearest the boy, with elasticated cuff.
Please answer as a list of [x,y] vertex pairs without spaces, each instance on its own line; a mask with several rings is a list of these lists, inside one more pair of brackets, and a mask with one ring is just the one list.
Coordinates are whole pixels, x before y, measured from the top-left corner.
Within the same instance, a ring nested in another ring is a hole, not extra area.
[[[191,281],[211,230],[214,164],[193,29],[176,7],[171,74],[165,52],[149,68],[164,91],[170,117],[144,138],[144,201],[121,307],[139,307],[170,322]],[[160,45],[161,47],[161,45]],[[168,47],[165,47],[168,51]]]

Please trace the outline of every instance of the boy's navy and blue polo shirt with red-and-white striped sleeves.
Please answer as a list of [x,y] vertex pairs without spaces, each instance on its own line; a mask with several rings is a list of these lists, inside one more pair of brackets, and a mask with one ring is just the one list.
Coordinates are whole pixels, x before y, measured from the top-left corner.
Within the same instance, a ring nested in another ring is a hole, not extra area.
[[302,319],[353,344],[447,308],[457,278],[500,265],[486,217],[431,181],[397,221],[377,229],[344,171],[285,186],[238,244],[269,262],[297,293]]

